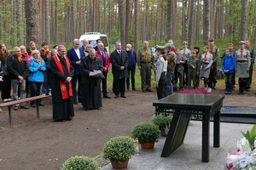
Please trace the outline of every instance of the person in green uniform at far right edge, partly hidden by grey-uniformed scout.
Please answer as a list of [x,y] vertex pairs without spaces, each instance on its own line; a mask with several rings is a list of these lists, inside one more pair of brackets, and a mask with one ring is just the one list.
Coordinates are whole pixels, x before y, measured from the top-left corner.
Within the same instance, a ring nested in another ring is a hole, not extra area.
[[247,78],[247,87],[246,91],[250,91],[252,80],[253,80],[253,61],[255,59],[255,50],[253,47],[250,46],[250,40],[246,39],[245,41],[245,48],[249,51],[250,56],[251,56],[251,65],[250,65],[250,70],[249,70],[249,77]]

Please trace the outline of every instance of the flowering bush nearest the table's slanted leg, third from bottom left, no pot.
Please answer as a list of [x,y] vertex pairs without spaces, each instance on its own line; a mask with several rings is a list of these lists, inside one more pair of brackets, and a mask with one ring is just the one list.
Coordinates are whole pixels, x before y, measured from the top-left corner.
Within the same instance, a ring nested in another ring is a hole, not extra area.
[[137,138],[141,144],[154,142],[159,136],[159,127],[152,122],[138,123],[131,131],[131,138]]

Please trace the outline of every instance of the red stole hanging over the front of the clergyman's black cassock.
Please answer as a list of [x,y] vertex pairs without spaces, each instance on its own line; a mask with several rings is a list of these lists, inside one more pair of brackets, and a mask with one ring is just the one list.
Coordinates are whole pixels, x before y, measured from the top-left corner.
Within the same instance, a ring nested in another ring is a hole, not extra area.
[[[63,71],[63,68],[62,68],[62,65],[61,65],[61,61],[60,59],[57,57],[57,55],[55,55],[54,57],[55,59],[55,63],[56,63],[56,66],[58,68],[58,71],[60,71],[62,74],[64,74],[64,71]],[[68,74],[70,73],[70,62],[69,60],[67,59],[67,57],[64,57],[64,59],[66,60],[66,63],[67,63],[67,70],[68,70]],[[61,80],[59,81],[60,82],[60,88],[61,88],[61,96],[62,96],[62,99],[67,99],[68,98],[68,94],[67,94],[67,85],[66,85],[66,82],[62,82]],[[73,90],[72,90],[72,84],[71,82],[68,82],[68,92],[69,92],[69,96],[73,96]]]

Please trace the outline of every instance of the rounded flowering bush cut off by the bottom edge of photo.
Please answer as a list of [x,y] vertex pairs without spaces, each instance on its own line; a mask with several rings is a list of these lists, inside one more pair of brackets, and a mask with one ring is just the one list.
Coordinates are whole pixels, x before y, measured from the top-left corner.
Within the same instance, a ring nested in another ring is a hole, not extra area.
[[100,167],[90,157],[72,156],[62,165],[61,170],[99,170]]

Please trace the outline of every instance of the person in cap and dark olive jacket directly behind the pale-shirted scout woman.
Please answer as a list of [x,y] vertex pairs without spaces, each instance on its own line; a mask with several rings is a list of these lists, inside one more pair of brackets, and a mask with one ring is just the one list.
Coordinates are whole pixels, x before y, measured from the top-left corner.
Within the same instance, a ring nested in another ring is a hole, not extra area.
[[166,90],[167,90],[167,95],[172,95],[173,94],[173,73],[175,70],[175,66],[177,63],[177,57],[176,57],[176,51],[175,47],[172,43],[166,43],[166,52],[167,52],[167,74],[166,74],[166,79],[167,79],[167,85],[166,85]]

